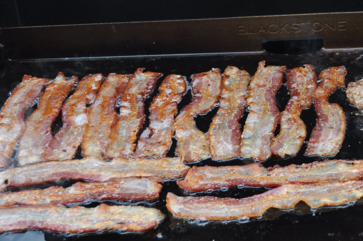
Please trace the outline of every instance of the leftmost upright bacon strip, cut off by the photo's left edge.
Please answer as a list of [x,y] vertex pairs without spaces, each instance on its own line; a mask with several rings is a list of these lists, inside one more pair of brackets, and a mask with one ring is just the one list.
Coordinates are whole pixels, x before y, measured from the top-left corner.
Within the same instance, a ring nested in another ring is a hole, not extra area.
[[50,79],[24,75],[23,81],[12,91],[0,113],[0,169],[4,168],[13,148],[24,132],[24,113],[33,105]]

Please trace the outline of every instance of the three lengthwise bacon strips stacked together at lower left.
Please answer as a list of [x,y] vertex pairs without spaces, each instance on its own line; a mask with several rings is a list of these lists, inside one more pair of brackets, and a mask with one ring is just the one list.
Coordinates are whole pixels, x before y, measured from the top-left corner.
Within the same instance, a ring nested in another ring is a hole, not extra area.
[[183,177],[188,169],[180,157],[111,161],[87,157],[6,169],[0,172],[0,189],[62,179],[93,182],[0,193],[0,232],[28,228],[66,233],[107,229],[143,232],[159,225],[164,214],[155,208],[130,205],[66,206],[103,200],[155,201],[163,179]]

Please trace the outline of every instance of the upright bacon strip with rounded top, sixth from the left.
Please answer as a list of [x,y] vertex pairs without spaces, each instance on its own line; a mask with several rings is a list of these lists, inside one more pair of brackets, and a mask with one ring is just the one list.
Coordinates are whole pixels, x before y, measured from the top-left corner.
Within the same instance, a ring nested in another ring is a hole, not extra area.
[[150,125],[140,135],[134,157],[166,156],[174,134],[174,117],[177,104],[187,91],[187,83],[181,75],[170,74],[159,87],[159,94],[149,107]]

